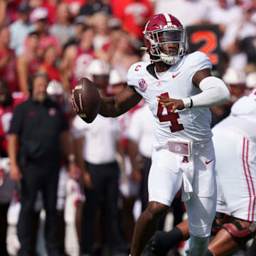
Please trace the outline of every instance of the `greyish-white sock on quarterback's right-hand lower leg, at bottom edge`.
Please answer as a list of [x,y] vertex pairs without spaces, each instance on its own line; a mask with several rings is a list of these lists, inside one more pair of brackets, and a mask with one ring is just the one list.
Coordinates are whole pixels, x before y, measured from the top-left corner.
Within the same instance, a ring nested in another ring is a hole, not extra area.
[[198,238],[195,235],[191,234],[191,237],[188,239],[185,245],[185,256],[197,256],[204,255],[207,251],[209,244],[209,237]]

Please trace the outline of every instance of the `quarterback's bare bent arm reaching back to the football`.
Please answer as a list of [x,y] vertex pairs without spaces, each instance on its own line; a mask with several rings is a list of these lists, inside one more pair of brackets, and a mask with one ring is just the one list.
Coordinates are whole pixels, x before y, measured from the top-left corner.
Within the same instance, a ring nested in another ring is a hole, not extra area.
[[136,92],[134,87],[127,86],[114,97],[101,98],[100,114],[103,117],[118,117],[131,110],[140,100],[142,96]]

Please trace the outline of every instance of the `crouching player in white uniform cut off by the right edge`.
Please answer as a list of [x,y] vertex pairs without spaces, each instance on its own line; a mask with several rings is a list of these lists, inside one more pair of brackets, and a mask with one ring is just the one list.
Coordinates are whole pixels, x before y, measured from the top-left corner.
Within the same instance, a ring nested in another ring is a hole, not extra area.
[[[218,184],[217,213],[208,255],[228,255],[256,235],[256,89],[234,103],[230,115],[213,128]],[[223,144],[226,146],[223,147]],[[189,238],[188,220],[170,232],[157,232],[143,255],[167,255]],[[247,255],[253,254],[250,247]]]

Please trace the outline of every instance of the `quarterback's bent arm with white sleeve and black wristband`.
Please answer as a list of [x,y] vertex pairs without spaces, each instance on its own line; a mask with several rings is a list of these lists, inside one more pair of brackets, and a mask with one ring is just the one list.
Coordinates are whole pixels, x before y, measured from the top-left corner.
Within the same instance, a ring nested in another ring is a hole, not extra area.
[[193,85],[201,89],[201,93],[181,100],[158,96],[162,107],[171,107],[171,112],[191,107],[213,107],[230,100],[230,92],[223,80],[211,75],[210,69],[198,70],[192,78]]

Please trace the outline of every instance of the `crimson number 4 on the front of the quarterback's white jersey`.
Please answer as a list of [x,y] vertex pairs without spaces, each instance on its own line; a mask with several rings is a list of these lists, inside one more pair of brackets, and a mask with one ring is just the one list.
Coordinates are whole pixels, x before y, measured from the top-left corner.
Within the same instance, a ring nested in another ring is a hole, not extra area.
[[[161,96],[169,97],[168,92],[162,93]],[[157,108],[157,116],[160,122],[171,122],[171,132],[178,132],[184,129],[182,124],[178,123],[179,114],[171,113],[171,107],[166,107],[167,114],[163,115],[164,107],[161,107],[160,103]]]

